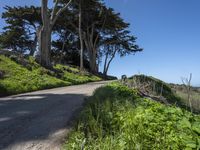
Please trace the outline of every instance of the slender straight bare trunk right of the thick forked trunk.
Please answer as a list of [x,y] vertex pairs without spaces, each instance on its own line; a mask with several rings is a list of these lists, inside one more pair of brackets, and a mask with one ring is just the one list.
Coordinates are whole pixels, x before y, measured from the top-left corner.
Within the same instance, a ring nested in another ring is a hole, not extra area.
[[80,38],[80,70],[83,70],[83,38],[82,38],[82,9],[79,2],[79,38]]

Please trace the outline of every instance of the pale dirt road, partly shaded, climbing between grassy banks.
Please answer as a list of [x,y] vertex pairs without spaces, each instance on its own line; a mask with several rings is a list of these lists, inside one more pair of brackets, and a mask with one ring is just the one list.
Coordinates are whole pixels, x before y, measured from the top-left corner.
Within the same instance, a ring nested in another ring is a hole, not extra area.
[[57,150],[94,82],[0,98],[0,149]]

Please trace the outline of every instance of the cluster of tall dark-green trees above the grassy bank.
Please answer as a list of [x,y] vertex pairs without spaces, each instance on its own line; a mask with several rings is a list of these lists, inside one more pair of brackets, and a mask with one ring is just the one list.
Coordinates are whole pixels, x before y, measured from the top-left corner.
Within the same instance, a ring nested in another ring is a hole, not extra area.
[[[29,55],[39,51],[49,63],[80,65],[83,61],[93,73],[99,72],[103,62],[105,76],[116,55],[142,51],[129,23],[102,0],[56,0],[52,9],[47,8],[48,0],[41,2],[41,7],[4,7],[6,26],[0,35],[1,47]],[[40,43],[47,37],[50,43],[46,41],[45,48]]]

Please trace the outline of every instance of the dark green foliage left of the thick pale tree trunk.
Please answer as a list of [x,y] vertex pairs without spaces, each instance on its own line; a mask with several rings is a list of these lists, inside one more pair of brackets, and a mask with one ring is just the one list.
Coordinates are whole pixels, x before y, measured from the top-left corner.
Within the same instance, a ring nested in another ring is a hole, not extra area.
[[2,18],[7,25],[0,36],[1,47],[33,55],[37,46],[36,30],[41,24],[40,8],[6,6],[4,9]]

